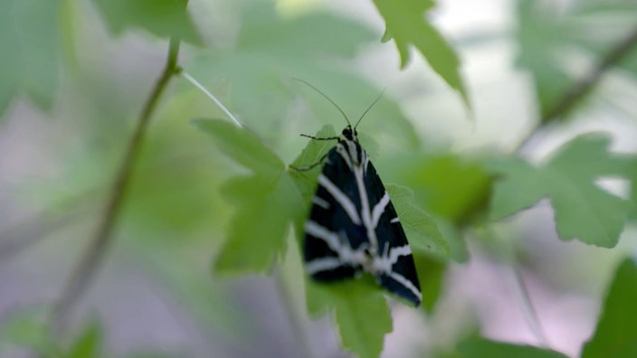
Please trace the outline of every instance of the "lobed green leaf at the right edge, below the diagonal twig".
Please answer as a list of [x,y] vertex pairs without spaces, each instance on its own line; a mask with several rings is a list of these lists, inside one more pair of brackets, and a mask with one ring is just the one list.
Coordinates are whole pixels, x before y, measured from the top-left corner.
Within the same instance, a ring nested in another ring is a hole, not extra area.
[[610,138],[605,135],[588,134],[562,146],[543,165],[515,158],[495,161],[492,169],[503,178],[495,184],[491,218],[503,218],[548,197],[562,240],[577,238],[612,248],[623,230],[628,205],[594,182],[623,174],[631,160],[609,153],[609,144]]

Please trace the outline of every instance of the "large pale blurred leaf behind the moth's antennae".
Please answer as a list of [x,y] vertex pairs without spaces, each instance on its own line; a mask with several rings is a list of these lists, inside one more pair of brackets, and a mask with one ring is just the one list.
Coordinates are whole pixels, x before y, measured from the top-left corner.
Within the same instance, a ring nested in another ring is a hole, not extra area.
[[[326,99],[294,78],[324,90],[347,114],[362,113],[380,93],[349,66],[376,39],[364,24],[321,12],[281,16],[270,2],[251,2],[241,24],[232,49],[203,53],[185,68],[269,143],[307,133],[317,120],[338,128],[346,125]],[[290,120],[290,106],[298,106],[294,101],[299,93],[314,116]],[[382,133],[390,144],[418,146],[414,127],[388,96],[378,101],[361,127]]]

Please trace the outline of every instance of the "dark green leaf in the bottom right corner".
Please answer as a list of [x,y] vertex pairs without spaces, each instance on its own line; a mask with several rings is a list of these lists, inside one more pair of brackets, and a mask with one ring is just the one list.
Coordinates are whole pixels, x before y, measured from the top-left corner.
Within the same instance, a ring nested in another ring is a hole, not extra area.
[[582,358],[637,356],[637,265],[623,260],[615,272],[604,312],[591,339],[586,342]]

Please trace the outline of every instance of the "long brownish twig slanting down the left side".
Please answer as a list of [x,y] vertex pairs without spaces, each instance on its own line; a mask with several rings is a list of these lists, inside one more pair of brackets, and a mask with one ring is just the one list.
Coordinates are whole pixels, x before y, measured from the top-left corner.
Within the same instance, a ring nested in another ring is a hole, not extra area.
[[132,168],[138,158],[144,135],[148,127],[148,122],[152,117],[157,103],[171,77],[176,73],[177,56],[179,53],[179,39],[171,38],[166,61],[166,68],[161,77],[157,80],[155,88],[147,99],[144,108],[139,115],[137,127],[128,142],[128,148],[119,167],[119,171],[111,186],[108,203],[105,206],[100,226],[95,233],[93,240],[75,269],[71,272],[71,277],[63,287],[62,295],[53,307],[52,311],[52,328],[57,334],[62,334],[66,320],[71,312],[72,307],[86,291],[90,284],[90,280],[94,277],[103,259],[109,243],[112,241],[112,231],[115,226],[118,214],[123,203]]

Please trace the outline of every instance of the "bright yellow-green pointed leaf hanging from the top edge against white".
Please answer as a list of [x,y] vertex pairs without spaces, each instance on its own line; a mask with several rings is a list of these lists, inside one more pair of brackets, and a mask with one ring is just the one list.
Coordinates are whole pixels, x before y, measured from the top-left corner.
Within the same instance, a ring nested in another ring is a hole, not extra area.
[[400,53],[401,67],[409,61],[409,45],[413,44],[443,80],[460,92],[469,107],[467,91],[459,72],[460,61],[442,35],[429,24],[423,14],[430,10],[432,0],[374,0],[378,12],[385,19],[383,39],[394,38]]

